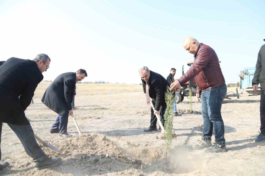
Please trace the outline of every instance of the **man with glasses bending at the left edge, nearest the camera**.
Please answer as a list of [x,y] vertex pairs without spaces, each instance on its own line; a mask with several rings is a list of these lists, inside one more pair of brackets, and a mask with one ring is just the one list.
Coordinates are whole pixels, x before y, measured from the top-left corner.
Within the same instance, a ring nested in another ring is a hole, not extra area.
[[[49,68],[50,61],[48,55],[38,54],[34,60],[12,57],[6,62],[0,62],[0,143],[4,122],[16,133],[26,153],[36,163],[37,170],[52,167],[61,162],[61,158],[48,158],[39,147],[24,113],[37,85],[43,79],[42,73]],[[7,162],[0,163],[0,170],[8,165]]]

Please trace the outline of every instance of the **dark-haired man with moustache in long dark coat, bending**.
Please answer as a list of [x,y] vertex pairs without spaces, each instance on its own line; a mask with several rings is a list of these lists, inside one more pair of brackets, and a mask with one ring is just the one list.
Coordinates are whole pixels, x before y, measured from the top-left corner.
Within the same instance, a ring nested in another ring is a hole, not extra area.
[[87,77],[87,72],[83,69],[79,69],[77,72],[63,73],[47,87],[42,102],[58,114],[50,133],[59,133],[59,136],[64,138],[72,136],[67,133],[68,114],[73,113],[71,103],[75,83],[82,81],[85,77]]

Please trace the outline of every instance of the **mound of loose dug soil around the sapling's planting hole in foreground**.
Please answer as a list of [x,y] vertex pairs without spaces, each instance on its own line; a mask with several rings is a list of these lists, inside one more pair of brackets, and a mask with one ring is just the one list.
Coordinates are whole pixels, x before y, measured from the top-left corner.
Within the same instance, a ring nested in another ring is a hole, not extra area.
[[[62,157],[63,162],[58,167],[74,168],[82,171],[82,174],[107,174],[119,172],[125,175],[142,175],[143,172],[167,171],[180,172],[179,163],[175,163],[175,157],[168,158],[170,163],[165,164],[164,146],[162,148],[150,148],[149,143],[139,145],[129,141],[111,141],[104,135],[82,134],[75,138],[62,139],[50,142],[64,152],[63,155],[55,153],[43,146],[41,148],[52,158]],[[171,162],[172,161],[172,162]],[[28,171],[29,172],[29,171]],[[34,174],[43,174],[38,171]]]

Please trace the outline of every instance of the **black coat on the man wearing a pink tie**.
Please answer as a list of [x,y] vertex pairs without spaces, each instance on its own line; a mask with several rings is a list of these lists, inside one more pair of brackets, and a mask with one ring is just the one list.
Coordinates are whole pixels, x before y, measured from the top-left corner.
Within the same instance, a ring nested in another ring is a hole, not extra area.
[[[143,84],[143,91],[145,92],[145,84],[146,82],[142,80]],[[167,91],[167,87],[170,86],[170,84],[167,82],[167,80],[159,75],[158,73],[152,72],[150,70],[150,77],[148,79],[148,85],[149,85],[149,96],[154,99],[155,102],[155,110],[159,111],[161,105],[165,105],[165,93]]]

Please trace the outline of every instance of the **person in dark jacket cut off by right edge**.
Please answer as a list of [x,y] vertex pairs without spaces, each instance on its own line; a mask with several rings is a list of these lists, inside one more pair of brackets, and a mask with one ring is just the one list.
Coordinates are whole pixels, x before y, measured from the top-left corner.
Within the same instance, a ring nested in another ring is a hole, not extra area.
[[[265,41],[265,40],[264,40]],[[256,70],[252,79],[252,87],[258,93],[258,84],[260,84],[260,134],[254,142],[261,142],[265,140],[265,45],[262,45],[258,60],[256,63]]]

